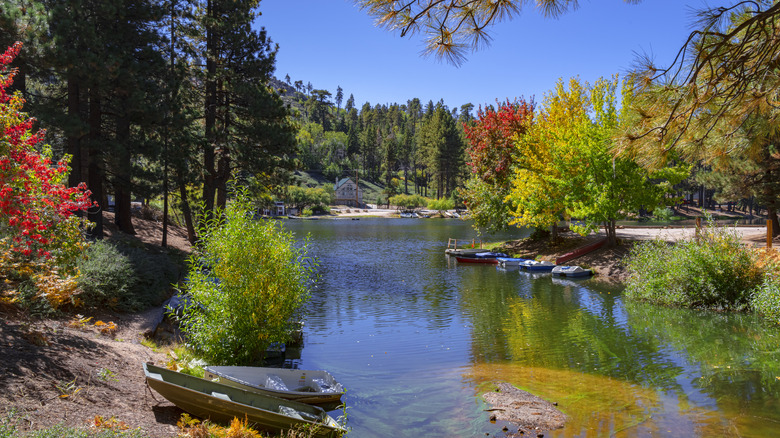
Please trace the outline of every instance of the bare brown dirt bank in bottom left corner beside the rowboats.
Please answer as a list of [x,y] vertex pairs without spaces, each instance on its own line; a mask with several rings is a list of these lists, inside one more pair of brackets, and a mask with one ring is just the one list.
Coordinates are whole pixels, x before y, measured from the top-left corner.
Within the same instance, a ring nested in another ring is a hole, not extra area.
[[[0,325],[0,406],[16,409],[20,426],[35,430],[56,423],[94,424],[96,417],[140,427],[155,437],[174,436],[180,411],[157,404],[147,390],[142,364],[165,364],[165,354],[141,345],[145,315],[103,314],[26,321],[3,315]],[[94,325],[113,322],[115,331]],[[161,398],[155,394],[155,397]]]

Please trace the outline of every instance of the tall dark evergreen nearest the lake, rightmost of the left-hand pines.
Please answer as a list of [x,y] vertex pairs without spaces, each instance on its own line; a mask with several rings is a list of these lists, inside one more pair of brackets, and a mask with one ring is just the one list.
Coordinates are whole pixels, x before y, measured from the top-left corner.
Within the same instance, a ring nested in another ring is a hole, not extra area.
[[[258,4],[257,0],[205,0],[202,8],[207,210],[225,205],[227,182],[236,168],[255,175],[265,172],[271,183],[293,167],[294,128],[281,99],[266,85],[278,47],[264,28],[252,29]],[[311,83],[307,87],[310,90]]]

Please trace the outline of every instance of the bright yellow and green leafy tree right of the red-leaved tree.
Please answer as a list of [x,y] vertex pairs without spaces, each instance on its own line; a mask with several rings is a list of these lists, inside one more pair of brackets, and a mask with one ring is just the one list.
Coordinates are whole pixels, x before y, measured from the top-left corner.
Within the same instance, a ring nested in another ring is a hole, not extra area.
[[[574,230],[585,234],[603,225],[615,245],[618,218],[640,207],[655,208],[687,176],[687,168],[651,174],[630,158],[615,157],[617,86],[617,77],[592,86],[573,78],[568,88],[559,81],[546,96],[536,124],[518,143],[508,197],[514,223],[538,227],[554,225],[562,216],[580,218],[584,223]],[[630,98],[624,93],[625,104]]]

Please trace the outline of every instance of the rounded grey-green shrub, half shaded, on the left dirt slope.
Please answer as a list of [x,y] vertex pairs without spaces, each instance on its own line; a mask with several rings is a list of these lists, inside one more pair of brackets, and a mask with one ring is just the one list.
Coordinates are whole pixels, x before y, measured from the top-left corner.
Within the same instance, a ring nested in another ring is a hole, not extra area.
[[93,243],[86,255],[79,264],[77,296],[86,307],[136,311],[159,304],[179,273],[167,254],[109,241]]

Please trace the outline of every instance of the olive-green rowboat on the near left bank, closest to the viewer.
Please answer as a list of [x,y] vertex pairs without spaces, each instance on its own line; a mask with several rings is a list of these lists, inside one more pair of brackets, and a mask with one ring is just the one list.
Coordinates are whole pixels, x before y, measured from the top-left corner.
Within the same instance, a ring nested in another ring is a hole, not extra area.
[[273,433],[308,425],[312,436],[339,437],[346,429],[322,408],[144,364],[146,383],[168,401],[200,418],[229,422],[245,418]]

